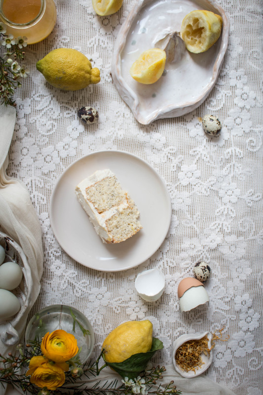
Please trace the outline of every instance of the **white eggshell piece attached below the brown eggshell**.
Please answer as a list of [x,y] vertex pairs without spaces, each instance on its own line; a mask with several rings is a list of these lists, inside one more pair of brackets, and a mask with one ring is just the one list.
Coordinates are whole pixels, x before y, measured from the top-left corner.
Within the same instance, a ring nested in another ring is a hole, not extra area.
[[209,296],[203,285],[189,288],[179,299],[182,312],[188,312],[199,305],[209,302]]

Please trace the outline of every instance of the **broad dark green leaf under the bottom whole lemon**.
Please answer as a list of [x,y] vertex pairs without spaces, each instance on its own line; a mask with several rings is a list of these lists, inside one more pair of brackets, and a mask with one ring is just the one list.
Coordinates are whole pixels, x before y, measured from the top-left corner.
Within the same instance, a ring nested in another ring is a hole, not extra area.
[[124,377],[128,377],[128,379],[134,380],[146,369],[147,363],[156,351],[161,349],[163,349],[162,342],[153,337],[150,351],[147,353],[134,354],[123,362],[107,362],[104,354],[102,356],[107,365],[115,370],[123,379]]

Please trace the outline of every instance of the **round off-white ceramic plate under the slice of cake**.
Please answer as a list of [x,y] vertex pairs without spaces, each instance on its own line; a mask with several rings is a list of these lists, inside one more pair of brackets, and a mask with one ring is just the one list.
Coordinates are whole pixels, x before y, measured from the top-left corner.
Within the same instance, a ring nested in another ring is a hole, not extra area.
[[[143,229],[118,244],[105,244],[75,196],[76,185],[96,170],[111,169],[140,211]],[[166,186],[144,160],[122,151],[100,151],[75,161],[58,179],[50,202],[50,222],[62,248],[92,269],[116,272],[140,265],[159,248],[171,220]]]

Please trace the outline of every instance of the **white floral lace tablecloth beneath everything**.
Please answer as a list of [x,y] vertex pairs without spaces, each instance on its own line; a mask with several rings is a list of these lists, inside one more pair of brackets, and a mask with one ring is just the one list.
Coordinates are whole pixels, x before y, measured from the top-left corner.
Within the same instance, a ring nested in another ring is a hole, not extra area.
[[[32,314],[51,304],[81,310],[95,331],[93,356],[105,336],[126,320],[149,318],[164,343],[158,362],[171,363],[173,341],[189,331],[225,328],[207,375],[238,395],[261,395],[262,350],[262,5],[261,0],[220,0],[230,19],[229,44],[217,83],[196,111],[139,124],[111,78],[113,44],[135,0],[99,17],[91,0],[56,0],[51,35],[26,48],[30,76],[17,90],[17,122],[8,174],[27,185],[42,227],[44,273]],[[75,48],[101,70],[101,82],[76,92],[49,85],[36,62],[50,50]],[[77,110],[99,111],[87,126]],[[220,137],[208,138],[198,117],[214,114]],[[49,202],[60,174],[94,151],[122,150],[145,159],[165,181],[172,220],[165,241],[139,267],[97,272],[71,259],[50,227]],[[179,310],[177,286],[204,260],[212,269],[210,303]],[[162,297],[147,303],[134,288],[138,273],[157,267],[165,275]]]

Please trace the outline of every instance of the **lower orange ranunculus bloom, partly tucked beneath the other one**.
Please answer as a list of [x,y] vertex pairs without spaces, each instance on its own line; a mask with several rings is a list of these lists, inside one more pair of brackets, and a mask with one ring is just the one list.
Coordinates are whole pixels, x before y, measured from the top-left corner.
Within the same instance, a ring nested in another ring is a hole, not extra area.
[[48,390],[55,391],[65,383],[65,373],[58,364],[44,362],[31,374],[30,382],[40,388],[46,387]]

